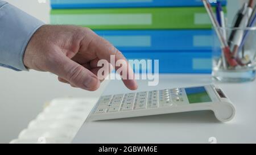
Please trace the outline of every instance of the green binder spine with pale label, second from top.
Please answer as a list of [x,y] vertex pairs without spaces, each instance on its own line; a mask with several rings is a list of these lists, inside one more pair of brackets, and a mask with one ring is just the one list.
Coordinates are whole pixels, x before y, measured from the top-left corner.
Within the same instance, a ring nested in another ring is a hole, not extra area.
[[204,7],[134,9],[59,9],[52,24],[76,24],[93,30],[210,29]]

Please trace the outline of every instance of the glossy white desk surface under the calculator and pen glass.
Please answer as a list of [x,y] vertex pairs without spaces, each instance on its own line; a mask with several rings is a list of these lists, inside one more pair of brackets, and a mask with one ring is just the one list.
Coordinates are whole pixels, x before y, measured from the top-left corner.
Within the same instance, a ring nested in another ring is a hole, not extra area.
[[[210,75],[162,75],[159,85],[139,81],[138,91],[213,83]],[[82,125],[73,143],[256,143],[256,82],[216,83],[236,107],[235,118],[218,122],[213,112],[183,112],[89,122]],[[121,81],[110,81],[104,95],[128,93]]]

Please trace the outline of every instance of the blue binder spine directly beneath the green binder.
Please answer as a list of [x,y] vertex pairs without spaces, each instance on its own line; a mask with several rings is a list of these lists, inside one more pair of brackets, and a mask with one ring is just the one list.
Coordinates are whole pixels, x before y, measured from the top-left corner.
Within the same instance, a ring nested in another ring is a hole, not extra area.
[[119,51],[210,51],[212,30],[95,31]]

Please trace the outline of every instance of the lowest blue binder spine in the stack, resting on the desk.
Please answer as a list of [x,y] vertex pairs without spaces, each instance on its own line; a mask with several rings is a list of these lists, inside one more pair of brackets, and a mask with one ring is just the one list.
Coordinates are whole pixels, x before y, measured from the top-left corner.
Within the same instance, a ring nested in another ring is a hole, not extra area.
[[[212,52],[188,52],[188,51],[155,51],[155,52],[129,52],[123,51],[128,60],[159,60],[159,73],[203,73],[212,72]],[[142,66],[140,73],[155,73],[154,65]],[[133,66],[134,72],[135,65]]]

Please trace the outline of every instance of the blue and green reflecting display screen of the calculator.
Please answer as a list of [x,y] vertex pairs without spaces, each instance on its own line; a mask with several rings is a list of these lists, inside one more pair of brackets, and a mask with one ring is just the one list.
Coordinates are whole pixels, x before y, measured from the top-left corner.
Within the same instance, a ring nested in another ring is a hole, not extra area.
[[185,92],[188,97],[189,103],[203,103],[203,102],[212,102],[210,99],[205,87],[191,87],[186,88]]

